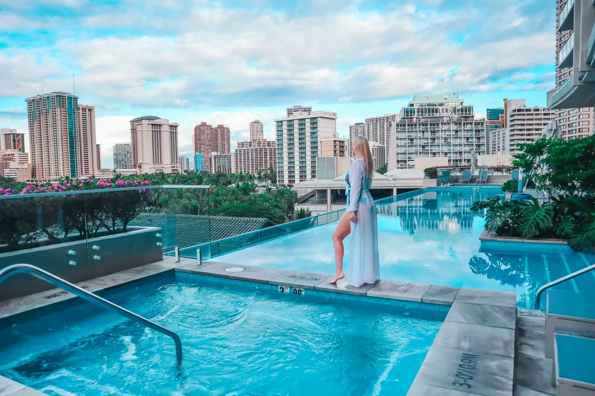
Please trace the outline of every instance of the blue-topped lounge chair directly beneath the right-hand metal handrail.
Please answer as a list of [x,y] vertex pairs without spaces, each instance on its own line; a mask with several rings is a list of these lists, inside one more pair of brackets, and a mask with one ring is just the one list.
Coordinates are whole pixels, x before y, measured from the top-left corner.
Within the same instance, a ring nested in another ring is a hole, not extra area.
[[548,359],[552,359],[554,355],[554,333],[564,332],[564,329],[595,331],[595,294],[548,290],[546,310],[546,357]]

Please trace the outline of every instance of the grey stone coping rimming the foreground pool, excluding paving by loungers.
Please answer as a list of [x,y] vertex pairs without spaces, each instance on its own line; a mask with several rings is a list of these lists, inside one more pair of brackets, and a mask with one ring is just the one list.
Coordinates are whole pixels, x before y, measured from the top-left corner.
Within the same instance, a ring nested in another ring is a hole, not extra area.
[[[238,272],[225,271],[230,267],[243,268],[243,270]],[[77,285],[82,287],[83,285],[86,286],[86,289],[90,292],[98,292],[99,290],[111,289],[112,287],[122,286],[127,283],[142,280],[143,278],[151,277],[153,275],[167,273],[169,271],[173,271],[174,273],[176,271],[181,271],[185,273],[208,275],[214,278],[230,278],[299,289],[320,290],[322,292],[355,294],[362,297],[376,297],[380,299],[401,300],[414,303],[418,302],[441,305],[443,307],[449,306],[449,312],[443,321],[443,324],[449,322],[449,326],[444,327],[441,325],[436,338],[411,384],[408,395],[421,395],[424,394],[423,392],[427,392],[428,389],[437,392],[443,392],[445,388],[450,389],[451,391],[460,391],[461,388],[457,388],[453,385],[453,378],[455,378],[456,368],[464,353],[481,354],[484,359],[499,361],[500,365],[504,367],[505,370],[500,370],[497,375],[495,373],[489,375],[478,373],[478,377],[485,376],[485,379],[488,382],[503,382],[506,389],[500,389],[500,391],[512,395],[515,353],[514,329],[516,321],[516,293],[514,292],[499,292],[495,290],[468,289],[462,287],[416,284],[388,280],[380,280],[375,284],[365,284],[365,286],[358,288],[345,288],[343,287],[345,281],[340,281],[339,286],[331,286],[328,284],[328,280],[330,280],[330,277],[332,276],[330,274],[277,270],[267,267],[226,264],[217,261],[204,261],[203,264],[200,265],[196,259],[181,259],[180,262],[176,262],[174,258],[167,258],[162,261],[131,268],[130,270],[120,271],[119,273],[114,273],[105,277],[82,281],[77,283]],[[30,294],[29,296],[18,297],[17,299],[7,300],[6,302],[0,303],[0,308],[7,305],[10,308],[12,305],[12,309],[15,311],[9,315],[3,313],[0,315],[0,319],[54,305],[55,303],[76,297],[74,294],[65,292],[65,294],[60,293],[57,296],[48,299],[47,296],[56,294],[56,290],[60,289],[46,290],[45,292]],[[30,300],[28,304],[26,303],[27,299]],[[453,310],[452,307],[455,309]],[[512,328],[511,324],[509,324],[511,315]],[[506,320],[506,317],[508,317],[508,320]],[[501,323],[492,323],[494,318],[500,318]],[[493,343],[493,336],[488,337],[485,334],[488,334],[490,331],[495,331],[491,330],[494,328],[500,329],[498,330],[500,334],[506,334],[506,337],[502,337],[502,340],[498,340],[502,341],[503,345],[509,347],[509,344],[512,342],[512,356],[504,356],[483,351],[483,341],[490,338]],[[474,340],[472,337],[469,337],[470,334],[474,334],[476,339]],[[510,339],[511,334],[512,340]],[[485,340],[482,341],[481,338],[485,338]],[[444,341],[453,339],[461,341],[459,347],[453,347],[452,345],[450,347],[444,346]],[[482,351],[477,352],[477,350]],[[443,370],[436,370],[436,368],[443,368],[445,363],[447,367],[452,366],[455,368],[452,378],[438,378],[439,375],[443,375]],[[428,371],[432,372],[433,375],[428,376]],[[2,384],[2,381],[12,380],[0,376],[0,384]],[[18,382],[15,382],[15,384],[22,385],[22,387],[18,387],[14,392],[30,389],[32,396],[45,395],[40,391],[26,387],[26,385]],[[508,384],[510,384],[509,387]],[[419,389],[422,389],[422,393],[419,393]],[[474,389],[473,392],[474,393],[467,392],[466,394],[487,395],[491,394],[493,390],[486,389],[487,393],[484,393],[481,387],[479,387],[477,390]],[[13,392],[10,391],[10,393],[7,393],[6,395],[10,396],[12,393]]]

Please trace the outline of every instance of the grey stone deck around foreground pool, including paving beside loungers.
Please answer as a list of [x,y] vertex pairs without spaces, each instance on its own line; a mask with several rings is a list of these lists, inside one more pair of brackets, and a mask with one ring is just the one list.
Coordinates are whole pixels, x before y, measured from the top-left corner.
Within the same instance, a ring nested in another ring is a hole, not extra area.
[[[230,268],[234,270],[230,271]],[[97,292],[166,271],[183,271],[295,289],[355,294],[372,297],[371,299],[402,300],[413,302],[414,305],[416,302],[422,305],[437,304],[449,311],[408,395],[552,394],[548,377],[551,375],[551,360],[541,361],[537,356],[542,348],[541,341],[543,349],[545,345],[544,331],[543,337],[540,332],[539,312],[517,312],[516,294],[511,292],[385,280],[373,285],[345,288],[345,280],[339,281],[338,285],[329,284],[329,274],[216,261],[204,261],[202,265],[198,265],[196,259],[181,259],[176,262],[174,258],[83,281],[77,285],[90,292]],[[0,302],[0,319],[74,297],[71,293],[54,289]],[[545,384],[544,379],[547,379]],[[0,376],[0,395],[33,396],[42,393]]]

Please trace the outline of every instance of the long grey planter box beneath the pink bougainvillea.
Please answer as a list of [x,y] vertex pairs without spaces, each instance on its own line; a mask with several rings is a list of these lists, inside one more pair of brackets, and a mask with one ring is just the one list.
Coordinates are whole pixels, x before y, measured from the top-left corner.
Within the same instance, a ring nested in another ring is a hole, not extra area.
[[[0,269],[12,264],[31,264],[69,282],[128,270],[163,259],[161,229],[128,227],[124,233],[57,243],[0,254]],[[73,265],[76,262],[76,265]],[[2,281],[0,300],[26,296],[54,286],[29,274]]]

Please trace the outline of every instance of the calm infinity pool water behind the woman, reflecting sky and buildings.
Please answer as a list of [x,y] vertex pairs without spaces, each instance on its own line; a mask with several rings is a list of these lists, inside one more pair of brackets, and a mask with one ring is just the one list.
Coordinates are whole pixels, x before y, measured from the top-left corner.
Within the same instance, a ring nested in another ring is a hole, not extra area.
[[[534,306],[537,289],[595,263],[595,255],[546,253],[526,246],[480,252],[483,214],[473,202],[501,194],[499,188],[444,188],[378,207],[378,249],[383,279],[516,292],[519,308]],[[336,223],[280,237],[215,258],[230,264],[334,273],[331,235]],[[345,246],[349,245],[349,237]],[[542,245],[543,246],[543,245]],[[555,246],[559,248],[559,246]],[[347,265],[346,249],[345,265]],[[554,289],[595,293],[595,273]],[[544,302],[545,299],[542,299]]]

